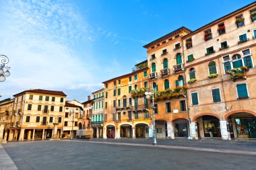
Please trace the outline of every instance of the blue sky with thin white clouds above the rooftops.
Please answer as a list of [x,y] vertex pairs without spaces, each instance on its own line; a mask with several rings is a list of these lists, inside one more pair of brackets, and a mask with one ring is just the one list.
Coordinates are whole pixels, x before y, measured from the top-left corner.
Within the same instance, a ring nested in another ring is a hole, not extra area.
[[11,76],[1,99],[26,89],[86,101],[102,81],[146,60],[142,46],[181,26],[195,30],[253,1],[0,1],[0,54]]

